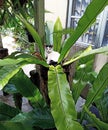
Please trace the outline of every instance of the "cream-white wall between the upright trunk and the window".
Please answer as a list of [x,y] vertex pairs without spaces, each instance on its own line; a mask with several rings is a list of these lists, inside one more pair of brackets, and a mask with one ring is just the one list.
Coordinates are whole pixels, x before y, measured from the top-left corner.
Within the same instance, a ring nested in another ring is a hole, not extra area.
[[45,21],[55,22],[58,17],[62,22],[62,26],[66,24],[66,11],[68,0],[45,0],[45,9],[52,13],[45,13]]

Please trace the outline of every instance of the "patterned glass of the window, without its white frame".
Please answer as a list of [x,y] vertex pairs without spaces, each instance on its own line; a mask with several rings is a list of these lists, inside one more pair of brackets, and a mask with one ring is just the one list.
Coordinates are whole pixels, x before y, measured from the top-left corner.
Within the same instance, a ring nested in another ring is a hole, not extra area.
[[[72,7],[72,15],[71,15],[71,22],[70,26],[75,29],[78,25],[79,19],[84,14],[86,7],[90,4],[92,0],[74,0],[73,7]],[[99,25],[99,17],[96,23],[91,26],[86,33],[83,34],[82,37],[79,38],[78,42],[83,42],[87,44],[94,44],[96,33]]]

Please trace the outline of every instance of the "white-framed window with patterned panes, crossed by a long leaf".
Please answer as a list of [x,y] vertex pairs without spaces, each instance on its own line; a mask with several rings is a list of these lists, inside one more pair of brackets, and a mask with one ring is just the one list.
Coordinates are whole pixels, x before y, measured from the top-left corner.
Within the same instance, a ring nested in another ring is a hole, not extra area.
[[[68,0],[67,27],[76,28],[91,0]],[[108,45],[108,7],[97,17],[96,22],[77,41],[95,48]]]

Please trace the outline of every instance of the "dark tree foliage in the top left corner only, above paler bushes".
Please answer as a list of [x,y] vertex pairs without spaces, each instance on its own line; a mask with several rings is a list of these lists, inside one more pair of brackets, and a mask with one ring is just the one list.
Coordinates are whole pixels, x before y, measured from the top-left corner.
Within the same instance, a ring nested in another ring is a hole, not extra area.
[[[28,20],[33,18],[33,3],[31,0],[14,2],[13,0],[5,0],[0,9],[0,25],[6,28],[14,27],[19,30],[21,22],[16,17],[16,13],[20,12]],[[20,28],[21,29],[21,28]],[[19,30],[20,31],[20,30]]]

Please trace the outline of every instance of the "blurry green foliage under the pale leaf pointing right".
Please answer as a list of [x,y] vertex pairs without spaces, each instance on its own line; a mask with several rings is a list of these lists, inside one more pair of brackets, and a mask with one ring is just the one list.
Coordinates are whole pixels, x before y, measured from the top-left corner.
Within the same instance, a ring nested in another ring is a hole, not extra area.
[[[80,59],[76,64],[76,72],[73,76],[73,98],[77,102],[82,90],[86,85],[92,87],[97,73],[93,70],[94,56],[87,56]],[[80,89],[79,89],[80,86]]]

